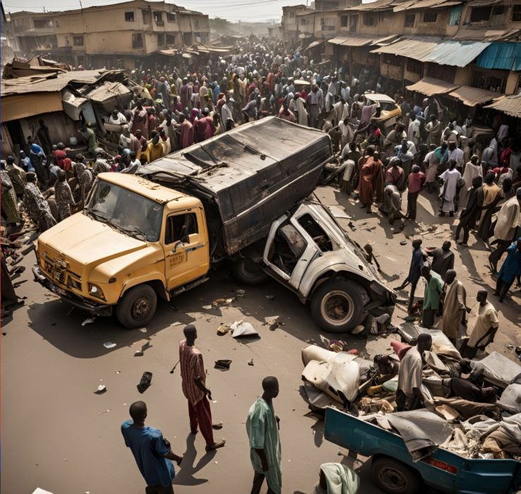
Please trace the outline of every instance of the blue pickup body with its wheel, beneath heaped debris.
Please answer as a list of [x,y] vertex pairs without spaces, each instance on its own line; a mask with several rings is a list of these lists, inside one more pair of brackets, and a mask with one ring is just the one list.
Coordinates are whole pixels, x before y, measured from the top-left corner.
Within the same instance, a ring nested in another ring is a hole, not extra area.
[[372,457],[373,481],[385,493],[420,493],[425,484],[447,494],[511,494],[521,488],[520,462],[469,459],[438,448],[414,463],[400,435],[337,409],[325,412],[324,437],[350,452]]

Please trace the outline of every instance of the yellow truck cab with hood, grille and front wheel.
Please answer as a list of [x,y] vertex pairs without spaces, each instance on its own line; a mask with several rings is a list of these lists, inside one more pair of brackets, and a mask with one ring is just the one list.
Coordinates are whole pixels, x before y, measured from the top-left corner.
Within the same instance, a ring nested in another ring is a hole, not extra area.
[[202,282],[210,268],[200,200],[139,176],[100,174],[83,212],[37,243],[38,281],[92,315],[148,323],[157,294]]

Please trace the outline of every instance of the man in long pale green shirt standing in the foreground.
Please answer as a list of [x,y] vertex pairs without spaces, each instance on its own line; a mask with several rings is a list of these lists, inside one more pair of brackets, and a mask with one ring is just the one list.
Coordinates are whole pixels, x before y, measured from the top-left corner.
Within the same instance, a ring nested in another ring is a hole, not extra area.
[[280,464],[279,418],[273,411],[273,398],[279,394],[277,378],[263,379],[263,395],[251,405],[246,420],[250,440],[250,459],[255,471],[251,494],[261,492],[266,478],[268,494],[280,494],[282,469]]

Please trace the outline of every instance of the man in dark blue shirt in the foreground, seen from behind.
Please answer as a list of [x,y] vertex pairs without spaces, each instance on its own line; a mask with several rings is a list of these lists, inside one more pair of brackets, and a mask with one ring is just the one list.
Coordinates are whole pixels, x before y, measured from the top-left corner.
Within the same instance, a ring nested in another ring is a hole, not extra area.
[[170,443],[163,438],[162,432],[150,426],[145,426],[147,406],[145,402],[135,402],[130,406],[132,420],[121,424],[121,433],[125,439],[147,488],[146,494],[174,494],[172,481],[175,471],[172,460],[178,465],[183,457],[172,452]]

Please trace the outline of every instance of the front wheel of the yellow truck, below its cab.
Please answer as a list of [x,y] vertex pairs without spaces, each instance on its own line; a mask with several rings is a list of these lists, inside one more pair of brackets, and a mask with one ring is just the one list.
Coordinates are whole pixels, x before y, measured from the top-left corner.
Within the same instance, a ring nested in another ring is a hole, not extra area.
[[157,295],[148,284],[140,284],[125,292],[116,306],[119,323],[133,330],[150,323],[157,306]]

